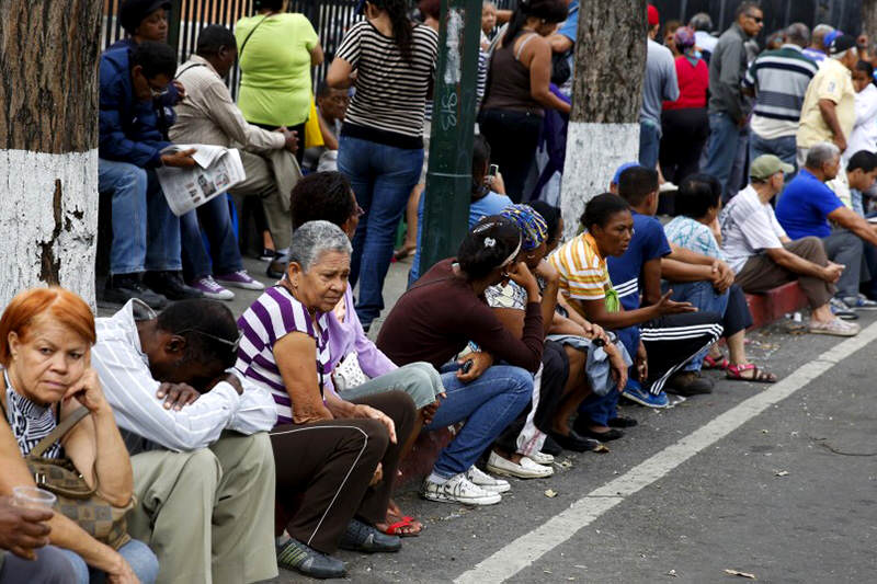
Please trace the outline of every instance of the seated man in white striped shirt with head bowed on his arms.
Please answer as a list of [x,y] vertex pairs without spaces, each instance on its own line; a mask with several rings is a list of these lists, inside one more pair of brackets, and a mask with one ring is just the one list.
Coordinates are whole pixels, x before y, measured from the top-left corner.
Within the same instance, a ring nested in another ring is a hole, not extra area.
[[128,530],[158,556],[159,581],[276,576],[265,433],[276,411],[264,389],[232,373],[240,333],[231,312],[198,299],[157,316],[134,299],[96,329],[91,364],[133,455]]

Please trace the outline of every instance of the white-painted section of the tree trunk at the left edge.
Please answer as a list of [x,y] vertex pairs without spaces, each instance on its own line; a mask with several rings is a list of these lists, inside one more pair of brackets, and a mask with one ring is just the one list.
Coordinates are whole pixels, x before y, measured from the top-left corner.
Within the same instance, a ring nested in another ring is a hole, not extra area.
[[98,150],[0,150],[0,307],[57,284],[94,307]]

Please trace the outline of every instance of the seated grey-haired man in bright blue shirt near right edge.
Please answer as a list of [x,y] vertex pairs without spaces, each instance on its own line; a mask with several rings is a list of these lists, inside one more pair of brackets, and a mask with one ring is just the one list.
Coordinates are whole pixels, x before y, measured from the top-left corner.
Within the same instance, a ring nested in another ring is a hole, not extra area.
[[[863,279],[863,241],[877,244],[877,228],[846,207],[825,185],[841,169],[841,151],[829,142],[810,148],[804,169],[776,205],[776,218],[790,239],[813,236],[822,239],[825,253],[845,266],[838,280],[836,298],[856,309],[877,309],[877,302],[858,296]],[[831,224],[829,224],[831,221]],[[867,268],[865,278],[868,279]],[[852,306],[851,306],[852,305]]]

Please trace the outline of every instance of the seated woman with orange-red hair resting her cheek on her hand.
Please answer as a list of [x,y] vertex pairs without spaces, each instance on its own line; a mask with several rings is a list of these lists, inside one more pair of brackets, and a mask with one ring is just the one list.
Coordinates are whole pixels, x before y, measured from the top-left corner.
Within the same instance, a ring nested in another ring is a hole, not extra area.
[[[22,457],[84,408],[88,414],[42,456],[68,458],[111,505],[124,508],[132,502],[130,459],[89,366],[95,337],[91,309],[71,291],[35,288],[7,307],[0,318],[0,494],[35,486]],[[158,575],[156,556],[140,541],[114,550],[60,513],[46,525],[48,541],[72,566],[69,582],[88,584],[91,576],[105,575],[112,582],[151,583]]]

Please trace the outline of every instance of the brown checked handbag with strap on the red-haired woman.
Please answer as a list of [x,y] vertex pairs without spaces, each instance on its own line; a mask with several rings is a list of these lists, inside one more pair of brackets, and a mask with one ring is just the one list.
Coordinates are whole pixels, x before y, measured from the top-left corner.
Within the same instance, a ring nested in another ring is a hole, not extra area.
[[[5,391],[5,381],[0,376],[0,388]],[[0,403],[3,417],[7,417],[5,408]],[[44,458],[43,454],[53,444],[62,439],[89,411],[80,408],[70,414],[48,433],[31,453],[24,457],[34,482],[41,489],[54,493],[58,497],[58,511],[76,523],[91,537],[117,550],[128,541],[128,522],[126,516],[134,507],[135,499],[125,507],[116,507],[98,494],[96,484],[89,486],[86,479],[77,470],[69,458]]]

